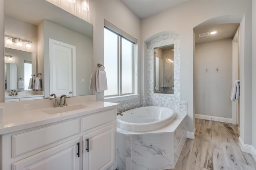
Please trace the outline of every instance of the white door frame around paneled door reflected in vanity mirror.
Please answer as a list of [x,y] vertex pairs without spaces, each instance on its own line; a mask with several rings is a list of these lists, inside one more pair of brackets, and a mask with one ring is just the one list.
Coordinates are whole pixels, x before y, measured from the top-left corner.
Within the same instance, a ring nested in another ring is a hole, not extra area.
[[63,47],[68,47],[71,49],[72,51],[72,94],[71,96],[76,96],[76,46],[74,45],[70,45],[68,43],[64,43],[64,42],[60,42],[54,39],[49,38],[49,73],[50,73],[50,94],[52,94],[52,89],[53,89],[53,85],[52,85],[52,69],[53,68],[53,64],[52,64],[52,55],[53,55],[53,51],[52,51],[52,45],[60,45]]

